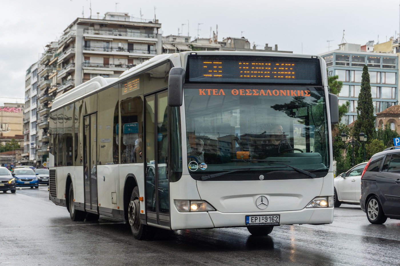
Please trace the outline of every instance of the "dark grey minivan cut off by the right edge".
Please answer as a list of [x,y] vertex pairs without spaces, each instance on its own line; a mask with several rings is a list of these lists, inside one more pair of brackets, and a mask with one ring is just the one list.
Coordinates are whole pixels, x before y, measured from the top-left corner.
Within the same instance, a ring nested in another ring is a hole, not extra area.
[[372,224],[400,219],[400,149],[375,153],[361,176],[361,209]]

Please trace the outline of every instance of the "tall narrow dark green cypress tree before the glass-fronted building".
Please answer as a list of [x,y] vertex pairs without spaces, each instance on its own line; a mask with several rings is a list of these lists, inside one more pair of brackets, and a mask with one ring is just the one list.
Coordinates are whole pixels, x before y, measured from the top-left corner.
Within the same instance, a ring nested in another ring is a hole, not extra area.
[[[361,76],[361,89],[358,95],[357,105],[357,121],[354,123],[354,138],[359,141],[358,134],[364,132],[368,136],[368,142],[374,139],[375,132],[375,117],[374,106],[372,105],[370,74],[368,66],[364,65]],[[362,143],[360,143],[362,144]],[[357,150],[357,152],[356,152]],[[358,147],[354,147],[354,156],[358,154]]]

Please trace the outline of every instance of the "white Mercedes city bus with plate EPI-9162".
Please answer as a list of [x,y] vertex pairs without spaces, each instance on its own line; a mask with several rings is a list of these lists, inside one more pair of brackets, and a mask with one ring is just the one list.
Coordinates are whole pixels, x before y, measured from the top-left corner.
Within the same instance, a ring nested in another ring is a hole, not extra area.
[[126,220],[137,239],[331,223],[337,122],[319,56],[155,56],[56,97],[50,200],[74,221]]

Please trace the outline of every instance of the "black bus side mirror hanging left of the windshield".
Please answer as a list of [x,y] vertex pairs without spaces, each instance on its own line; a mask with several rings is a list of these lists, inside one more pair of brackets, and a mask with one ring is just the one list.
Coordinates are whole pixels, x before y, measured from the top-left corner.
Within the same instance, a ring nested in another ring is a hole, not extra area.
[[172,67],[168,77],[168,106],[182,106],[185,69]]

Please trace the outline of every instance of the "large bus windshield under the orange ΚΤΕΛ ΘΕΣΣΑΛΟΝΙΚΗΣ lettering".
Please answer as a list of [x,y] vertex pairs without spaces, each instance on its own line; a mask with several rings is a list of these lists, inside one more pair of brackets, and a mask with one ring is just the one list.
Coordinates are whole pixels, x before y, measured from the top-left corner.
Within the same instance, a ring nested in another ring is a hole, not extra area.
[[193,84],[185,85],[184,98],[192,177],[258,167],[248,174],[307,178],[266,160],[326,175],[329,137],[323,87]]

